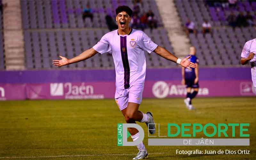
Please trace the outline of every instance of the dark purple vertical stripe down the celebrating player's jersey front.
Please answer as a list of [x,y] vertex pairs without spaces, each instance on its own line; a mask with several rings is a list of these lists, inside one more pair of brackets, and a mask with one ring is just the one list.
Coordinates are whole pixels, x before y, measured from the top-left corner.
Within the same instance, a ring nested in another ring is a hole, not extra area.
[[127,55],[126,36],[120,36],[120,49],[124,65],[124,89],[130,88],[130,66]]

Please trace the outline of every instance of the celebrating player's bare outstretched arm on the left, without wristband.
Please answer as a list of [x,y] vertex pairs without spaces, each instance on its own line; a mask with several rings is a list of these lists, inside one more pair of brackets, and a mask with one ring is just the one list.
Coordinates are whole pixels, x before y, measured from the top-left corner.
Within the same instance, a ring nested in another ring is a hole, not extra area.
[[82,60],[87,60],[88,58],[91,58],[92,56],[94,56],[96,53],[98,53],[96,50],[94,50],[93,48],[90,48],[71,59],[67,59],[66,57],[60,56],[61,60],[52,60],[52,64],[54,66],[61,67],[61,66],[72,64],[72,63],[80,62]]

